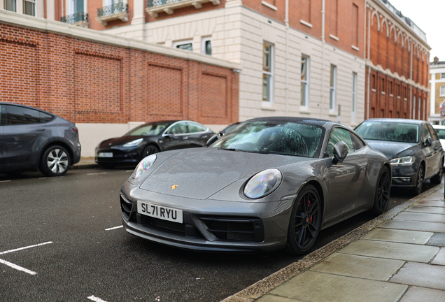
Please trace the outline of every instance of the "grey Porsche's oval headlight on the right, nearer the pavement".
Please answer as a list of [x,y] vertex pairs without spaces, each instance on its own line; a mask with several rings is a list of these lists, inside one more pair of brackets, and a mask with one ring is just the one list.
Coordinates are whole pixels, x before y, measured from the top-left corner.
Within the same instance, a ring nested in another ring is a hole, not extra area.
[[250,199],[259,199],[274,192],[281,184],[281,171],[271,168],[253,175],[244,187],[244,195]]

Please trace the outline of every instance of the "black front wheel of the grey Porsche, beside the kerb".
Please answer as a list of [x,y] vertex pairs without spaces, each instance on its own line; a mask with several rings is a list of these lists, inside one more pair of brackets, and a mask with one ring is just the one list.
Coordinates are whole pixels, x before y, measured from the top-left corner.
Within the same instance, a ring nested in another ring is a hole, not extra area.
[[300,255],[309,251],[320,231],[321,201],[313,185],[306,185],[295,199],[288,228],[286,250]]

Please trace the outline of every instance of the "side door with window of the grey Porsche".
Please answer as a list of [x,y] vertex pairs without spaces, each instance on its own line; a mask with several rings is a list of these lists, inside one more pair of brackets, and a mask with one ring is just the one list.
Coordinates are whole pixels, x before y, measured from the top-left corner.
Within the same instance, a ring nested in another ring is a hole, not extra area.
[[363,154],[365,143],[347,129],[334,128],[327,144],[330,158],[339,141],[348,146],[348,155],[338,164],[332,164],[330,159],[327,161],[327,219],[344,215],[366,202],[362,194],[367,169],[367,156]]

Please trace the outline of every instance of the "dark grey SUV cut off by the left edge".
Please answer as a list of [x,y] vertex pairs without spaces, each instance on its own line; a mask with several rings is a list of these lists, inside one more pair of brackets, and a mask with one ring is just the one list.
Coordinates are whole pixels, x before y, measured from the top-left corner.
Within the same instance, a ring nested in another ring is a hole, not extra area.
[[0,173],[64,175],[80,161],[76,125],[44,110],[0,102]]

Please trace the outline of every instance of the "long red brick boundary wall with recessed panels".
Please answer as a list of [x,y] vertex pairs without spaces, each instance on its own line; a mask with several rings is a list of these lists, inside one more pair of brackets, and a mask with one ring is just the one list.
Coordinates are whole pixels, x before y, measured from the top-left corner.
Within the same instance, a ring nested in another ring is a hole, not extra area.
[[0,24],[2,101],[78,123],[238,121],[239,74],[219,66]]

